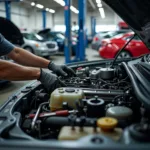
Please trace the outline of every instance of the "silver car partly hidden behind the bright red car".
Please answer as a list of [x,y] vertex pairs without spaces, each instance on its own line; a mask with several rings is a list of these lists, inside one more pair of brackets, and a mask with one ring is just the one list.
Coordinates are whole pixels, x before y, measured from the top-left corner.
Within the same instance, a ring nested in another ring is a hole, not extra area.
[[91,45],[92,49],[99,50],[103,39],[110,39],[117,34],[127,33],[127,32],[129,32],[129,30],[118,30],[118,31],[110,31],[107,33],[98,33],[93,38],[92,45]]

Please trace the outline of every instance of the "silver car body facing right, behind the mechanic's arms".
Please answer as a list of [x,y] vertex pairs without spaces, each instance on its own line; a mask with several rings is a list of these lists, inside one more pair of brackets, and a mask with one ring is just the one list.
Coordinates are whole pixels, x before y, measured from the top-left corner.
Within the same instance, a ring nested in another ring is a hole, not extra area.
[[24,44],[22,47],[38,56],[50,56],[58,52],[55,41],[48,41],[36,33],[22,32]]

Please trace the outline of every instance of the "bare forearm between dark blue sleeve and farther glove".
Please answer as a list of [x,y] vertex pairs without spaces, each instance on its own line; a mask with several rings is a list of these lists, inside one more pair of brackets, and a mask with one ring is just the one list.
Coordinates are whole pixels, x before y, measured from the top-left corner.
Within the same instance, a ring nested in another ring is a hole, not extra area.
[[31,67],[48,68],[50,63],[42,57],[38,57],[22,48],[15,47],[9,54],[8,57],[13,59],[15,62]]

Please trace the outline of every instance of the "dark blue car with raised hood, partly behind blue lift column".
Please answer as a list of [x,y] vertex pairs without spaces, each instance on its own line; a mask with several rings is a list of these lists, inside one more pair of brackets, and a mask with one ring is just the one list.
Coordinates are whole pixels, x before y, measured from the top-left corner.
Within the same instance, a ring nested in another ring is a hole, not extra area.
[[[62,32],[55,32],[51,31],[50,29],[44,29],[42,31],[38,32],[39,35],[41,35],[44,39],[50,40],[50,41],[56,41],[59,46],[59,51],[64,52],[64,46],[65,46],[65,36]],[[72,52],[75,54],[76,48],[77,48],[77,38],[72,37]]]

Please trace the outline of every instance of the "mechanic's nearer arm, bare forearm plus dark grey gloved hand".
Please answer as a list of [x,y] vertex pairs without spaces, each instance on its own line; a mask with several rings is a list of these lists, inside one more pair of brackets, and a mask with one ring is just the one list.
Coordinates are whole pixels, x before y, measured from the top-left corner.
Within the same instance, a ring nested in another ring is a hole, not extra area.
[[24,67],[18,64],[0,60],[0,80],[20,81],[39,80],[48,92],[54,91],[60,85],[64,86],[56,75],[46,72],[43,69]]

